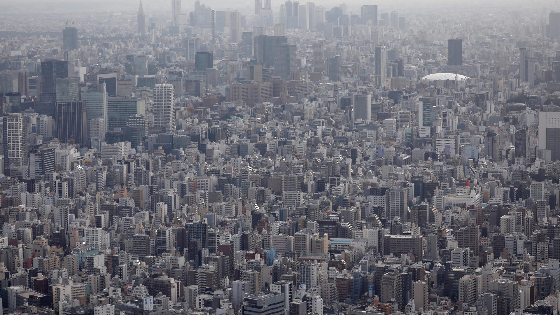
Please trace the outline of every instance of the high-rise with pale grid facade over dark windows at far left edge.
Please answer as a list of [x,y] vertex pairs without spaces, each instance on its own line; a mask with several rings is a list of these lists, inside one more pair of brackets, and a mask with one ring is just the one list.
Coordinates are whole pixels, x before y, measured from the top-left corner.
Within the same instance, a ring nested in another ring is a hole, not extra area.
[[27,118],[21,113],[7,114],[3,117],[4,135],[4,174],[10,176],[11,170],[22,178],[27,177]]

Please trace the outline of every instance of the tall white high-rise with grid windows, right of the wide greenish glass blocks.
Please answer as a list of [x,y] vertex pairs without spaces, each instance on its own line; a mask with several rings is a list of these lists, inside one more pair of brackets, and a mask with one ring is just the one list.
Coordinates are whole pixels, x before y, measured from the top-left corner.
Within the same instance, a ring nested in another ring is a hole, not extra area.
[[153,124],[175,132],[175,89],[172,84],[156,84],[153,90]]

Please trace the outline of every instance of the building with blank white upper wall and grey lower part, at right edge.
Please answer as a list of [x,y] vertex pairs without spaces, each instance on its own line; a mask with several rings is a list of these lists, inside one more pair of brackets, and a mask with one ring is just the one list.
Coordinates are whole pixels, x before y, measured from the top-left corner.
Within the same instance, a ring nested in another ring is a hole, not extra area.
[[552,161],[560,160],[560,112],[539,113],[539,150],[550,150]]

